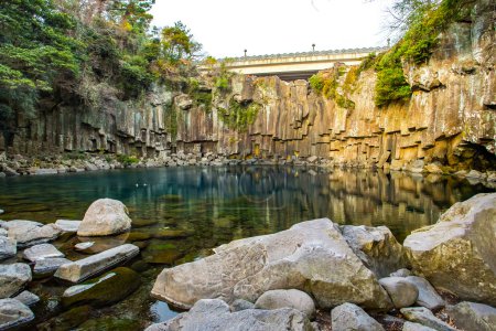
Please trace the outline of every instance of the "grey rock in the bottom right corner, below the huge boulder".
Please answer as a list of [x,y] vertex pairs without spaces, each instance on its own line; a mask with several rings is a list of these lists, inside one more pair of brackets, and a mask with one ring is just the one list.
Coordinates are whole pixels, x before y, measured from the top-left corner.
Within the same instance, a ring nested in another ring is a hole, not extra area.
[[446,310],[459,328],[477,331],[496,330],[496,308],[463,301],[456,306],[450,306]]

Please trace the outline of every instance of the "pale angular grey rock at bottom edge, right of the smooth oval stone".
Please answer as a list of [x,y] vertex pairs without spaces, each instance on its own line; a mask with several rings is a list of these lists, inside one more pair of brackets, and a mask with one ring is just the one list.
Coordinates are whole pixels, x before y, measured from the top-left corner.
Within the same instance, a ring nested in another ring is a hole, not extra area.
[[343,303],[331,311],[333,331],[384,331],[379,322],[353,303]]

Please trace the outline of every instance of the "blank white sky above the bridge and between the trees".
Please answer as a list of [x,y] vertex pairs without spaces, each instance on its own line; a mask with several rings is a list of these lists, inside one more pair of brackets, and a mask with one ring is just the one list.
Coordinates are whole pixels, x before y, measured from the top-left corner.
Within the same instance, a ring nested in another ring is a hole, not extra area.
[[159,28],[182,21],[214,57],[385,46],[392,0],[157,0]]

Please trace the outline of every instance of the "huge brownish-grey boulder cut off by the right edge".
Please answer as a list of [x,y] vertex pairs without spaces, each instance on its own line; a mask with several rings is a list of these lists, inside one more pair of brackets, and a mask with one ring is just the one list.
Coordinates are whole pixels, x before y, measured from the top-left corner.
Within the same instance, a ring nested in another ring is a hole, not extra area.
[[464,300],[496,306],[496,193],[455,203],[405,239],[413,271]]

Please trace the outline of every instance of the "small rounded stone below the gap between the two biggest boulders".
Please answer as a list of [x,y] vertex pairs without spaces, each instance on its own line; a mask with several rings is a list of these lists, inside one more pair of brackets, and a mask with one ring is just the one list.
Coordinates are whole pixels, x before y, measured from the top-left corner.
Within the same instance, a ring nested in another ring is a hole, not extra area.
[[417,286],[403,277],[385,277],[379,284],[386,289],[395,308],[412,306],[419,297]]

